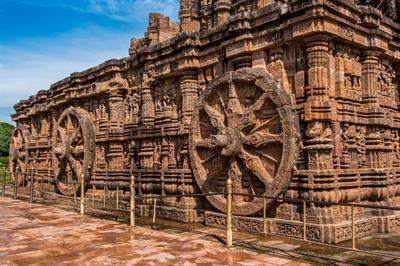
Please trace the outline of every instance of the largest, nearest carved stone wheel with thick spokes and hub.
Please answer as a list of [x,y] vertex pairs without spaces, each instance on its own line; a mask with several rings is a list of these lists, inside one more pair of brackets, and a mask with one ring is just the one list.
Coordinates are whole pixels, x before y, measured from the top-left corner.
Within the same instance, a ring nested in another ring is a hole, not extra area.
[[[210,84],[191,124],[190,156],[203,193],[225,192],[228,176],[235,215],[253,215],[263,199],[287,189],[299,154],[299,121],[289,95],[265,72],[240,69]],[[208,196],[226,212],[224,195]],[[267,200],[267,207],[274,204]]]

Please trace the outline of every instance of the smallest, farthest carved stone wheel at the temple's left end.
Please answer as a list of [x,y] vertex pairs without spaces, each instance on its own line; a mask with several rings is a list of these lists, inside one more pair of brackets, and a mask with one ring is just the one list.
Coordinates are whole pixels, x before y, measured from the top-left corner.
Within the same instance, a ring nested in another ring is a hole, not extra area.
[[17,126],[10,140],[10,174],[17,186],[22,185],[25,173],[28,170],[28,143],[31,140],[29,130],[26,126]]

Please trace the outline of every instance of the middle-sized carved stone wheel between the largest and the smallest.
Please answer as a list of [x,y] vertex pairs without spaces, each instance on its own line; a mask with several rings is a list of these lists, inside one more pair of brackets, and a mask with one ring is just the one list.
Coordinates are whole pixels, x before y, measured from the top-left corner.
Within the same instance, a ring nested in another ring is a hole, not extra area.
[[82,174],[90,179],[95,159],[95,134],[89,114],[65,110],[54,127],[53,169],[58,191],[72,196],[80,189]]

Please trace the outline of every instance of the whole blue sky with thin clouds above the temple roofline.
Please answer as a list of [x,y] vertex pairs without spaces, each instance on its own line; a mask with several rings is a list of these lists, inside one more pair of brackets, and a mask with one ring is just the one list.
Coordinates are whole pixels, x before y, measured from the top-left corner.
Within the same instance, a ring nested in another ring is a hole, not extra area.
[[177,20],[179,0],[0,0],[0,121],[40,89],[128,55],[148,13]]

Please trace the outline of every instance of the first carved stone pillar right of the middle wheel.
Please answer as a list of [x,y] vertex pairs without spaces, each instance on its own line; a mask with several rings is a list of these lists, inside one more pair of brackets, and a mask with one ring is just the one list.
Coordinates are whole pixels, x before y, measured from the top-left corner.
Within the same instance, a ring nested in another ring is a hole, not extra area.
[[123,92],[120,89],[111,90],[108,101],[110,106],[110,129],[121,129],[124,121]]

